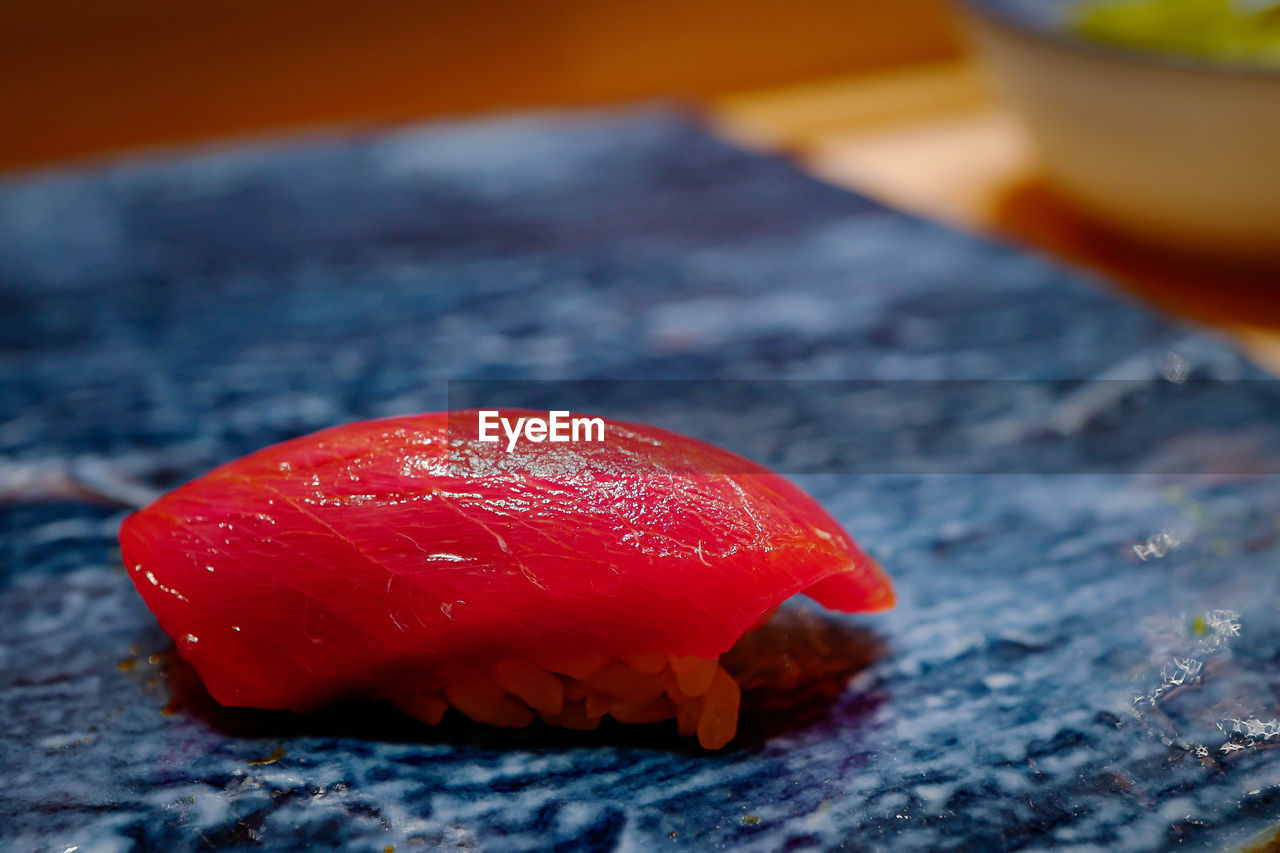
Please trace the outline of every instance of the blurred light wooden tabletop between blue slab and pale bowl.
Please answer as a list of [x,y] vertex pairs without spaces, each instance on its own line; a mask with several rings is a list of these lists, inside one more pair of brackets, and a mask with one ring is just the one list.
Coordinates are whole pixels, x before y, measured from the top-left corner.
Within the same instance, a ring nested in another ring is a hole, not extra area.
[[1280,269],[1175,257],[1093,227],[1038,178],[1015,117],[972,63],[742,92],[710,114],[727,138],[790,154],[820,178],[1097,270],[1280,371]]

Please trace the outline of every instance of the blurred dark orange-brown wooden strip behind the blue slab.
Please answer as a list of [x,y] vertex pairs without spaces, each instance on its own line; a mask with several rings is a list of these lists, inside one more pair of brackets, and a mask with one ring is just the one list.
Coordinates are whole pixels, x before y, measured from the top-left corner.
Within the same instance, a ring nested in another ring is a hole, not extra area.
[[696,97],[959,50],[943,0],[3,5],[0,169],[280,128]]

